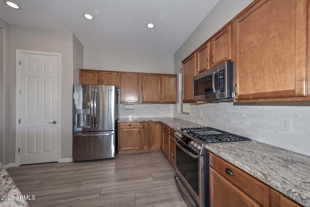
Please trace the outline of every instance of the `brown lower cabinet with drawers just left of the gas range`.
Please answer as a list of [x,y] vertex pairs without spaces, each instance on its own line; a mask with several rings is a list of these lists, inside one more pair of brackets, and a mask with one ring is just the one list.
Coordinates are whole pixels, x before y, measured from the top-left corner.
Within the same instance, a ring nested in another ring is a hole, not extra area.
[[172,167],[175,169],[175,141],[173,133],[175,132],[170,127],[161,124],[161,150],[163,151],[166,158],[170,161]]

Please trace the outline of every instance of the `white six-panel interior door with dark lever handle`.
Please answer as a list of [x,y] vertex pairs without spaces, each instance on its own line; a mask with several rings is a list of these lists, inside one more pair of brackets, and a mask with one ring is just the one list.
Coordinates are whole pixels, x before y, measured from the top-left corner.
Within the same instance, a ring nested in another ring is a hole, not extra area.
[[59,57],[20,53],[19,164],[57,161]]

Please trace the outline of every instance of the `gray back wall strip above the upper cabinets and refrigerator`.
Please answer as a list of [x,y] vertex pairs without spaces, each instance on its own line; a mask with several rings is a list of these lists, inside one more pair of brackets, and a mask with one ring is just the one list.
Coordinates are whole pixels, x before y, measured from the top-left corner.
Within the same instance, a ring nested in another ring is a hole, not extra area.
[[173,54],[84,46],[84,68],[173,74]]

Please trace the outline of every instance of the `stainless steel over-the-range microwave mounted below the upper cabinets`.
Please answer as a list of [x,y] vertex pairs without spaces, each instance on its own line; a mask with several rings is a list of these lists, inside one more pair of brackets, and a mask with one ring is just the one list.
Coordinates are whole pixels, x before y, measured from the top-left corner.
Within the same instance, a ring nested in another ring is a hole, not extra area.
[[193,78],[194,100],[233,101],[233,62],[226,61]]

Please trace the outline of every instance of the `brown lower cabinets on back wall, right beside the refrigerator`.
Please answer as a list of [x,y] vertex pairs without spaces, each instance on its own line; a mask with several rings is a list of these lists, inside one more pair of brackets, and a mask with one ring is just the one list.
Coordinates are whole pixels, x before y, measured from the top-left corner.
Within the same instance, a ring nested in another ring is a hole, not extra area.
[[160,122],[121,122],[118,126],[120,154],[160,149]]

